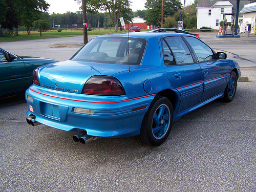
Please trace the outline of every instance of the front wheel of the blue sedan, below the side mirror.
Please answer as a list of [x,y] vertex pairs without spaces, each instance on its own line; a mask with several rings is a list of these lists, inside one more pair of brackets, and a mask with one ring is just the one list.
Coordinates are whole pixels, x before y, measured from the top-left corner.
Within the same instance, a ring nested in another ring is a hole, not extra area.
[[224,92],[223,101],[230,102],[234,99],[234,95],[236,95],[236,92],[237,92],[237,84],[238,84],[237,74],[234,71],[232,71],[230,73],[230,78]]

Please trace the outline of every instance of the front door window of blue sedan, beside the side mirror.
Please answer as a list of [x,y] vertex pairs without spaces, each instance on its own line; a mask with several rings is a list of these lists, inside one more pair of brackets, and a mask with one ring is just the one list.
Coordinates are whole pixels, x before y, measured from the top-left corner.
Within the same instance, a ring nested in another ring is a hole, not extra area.
[[184,36],[184,38],[188,41],[189,45],[193,48],[199,62],[209,61],[215,58],[212,50],[206,44],[204,44],[201,40],[195,37],[188,37],[188,36]]

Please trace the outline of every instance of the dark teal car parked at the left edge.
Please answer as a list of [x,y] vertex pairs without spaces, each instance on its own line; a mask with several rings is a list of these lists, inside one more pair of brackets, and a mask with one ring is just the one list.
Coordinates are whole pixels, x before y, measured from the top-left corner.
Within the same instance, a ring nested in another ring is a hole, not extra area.
[[56,60],[21,57],[0,48],[0,97],[25,91],[31,86],[33,70]]

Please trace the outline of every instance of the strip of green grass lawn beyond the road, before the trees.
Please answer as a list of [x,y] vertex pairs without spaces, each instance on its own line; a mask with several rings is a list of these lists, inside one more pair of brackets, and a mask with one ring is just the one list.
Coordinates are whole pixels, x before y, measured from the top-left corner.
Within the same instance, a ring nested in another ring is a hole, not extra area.
[[[142,30],[148,31],[148,30]],[[118,33],[123,33],[124,31],[118,31]],[[126,30],[127,32],[127,30]],[[114,29],[95,29],[87,32],[88,35],[104,35],[109,33],[115,33]],[[83,35],[82,29],[63,29],[61,32],[57,30],[49,30],[47,32],[42,32],[42,36],[37,31],[31,31],[28,35],[27,31],[19,31],[18,36],[0,36],[0,42],[18,41],[18,40],[32,40],[32,39],[44,39],[44,38],[58,38],[58,37],[72,37],[77,35]]]

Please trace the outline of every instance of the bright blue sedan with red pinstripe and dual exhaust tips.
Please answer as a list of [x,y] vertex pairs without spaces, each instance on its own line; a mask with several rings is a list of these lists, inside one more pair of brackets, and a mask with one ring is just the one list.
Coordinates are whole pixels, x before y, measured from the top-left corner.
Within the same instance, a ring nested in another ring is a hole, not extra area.
[[78,132],[76,142],[140,135],[160,145],[180,117],[233,100],[241,71],[194,35],[96,37],[70,60],[38,67],[26,91],[27,122]]

